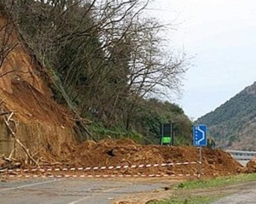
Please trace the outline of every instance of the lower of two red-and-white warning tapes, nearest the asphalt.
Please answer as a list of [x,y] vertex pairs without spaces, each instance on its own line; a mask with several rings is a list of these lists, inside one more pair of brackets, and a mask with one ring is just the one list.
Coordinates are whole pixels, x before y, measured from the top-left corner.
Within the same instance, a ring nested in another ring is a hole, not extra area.
[[52,175],[36,175],[36,174],[6,174],[9,178],[160,178],[160,177],[192,177],[198,176],[198,174],[86,174],[86,175],[61,175],[61,174],[52,174]]

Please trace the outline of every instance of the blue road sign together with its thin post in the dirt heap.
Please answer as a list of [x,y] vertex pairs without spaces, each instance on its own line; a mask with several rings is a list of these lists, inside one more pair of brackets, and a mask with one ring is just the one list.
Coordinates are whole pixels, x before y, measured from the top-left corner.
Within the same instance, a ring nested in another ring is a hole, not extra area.
[[201,147],[207,146],[207,126],[204,124],[193,126],[193,144],[199,147],[199,177],[201,176]]

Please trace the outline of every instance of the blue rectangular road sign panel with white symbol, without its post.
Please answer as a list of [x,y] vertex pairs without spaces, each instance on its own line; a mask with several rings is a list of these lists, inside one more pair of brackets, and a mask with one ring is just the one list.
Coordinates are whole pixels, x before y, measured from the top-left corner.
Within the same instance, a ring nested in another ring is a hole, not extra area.
[[195,146],[207,145],[207,126],[206,125],[194,125],[193,126],[193,144]]

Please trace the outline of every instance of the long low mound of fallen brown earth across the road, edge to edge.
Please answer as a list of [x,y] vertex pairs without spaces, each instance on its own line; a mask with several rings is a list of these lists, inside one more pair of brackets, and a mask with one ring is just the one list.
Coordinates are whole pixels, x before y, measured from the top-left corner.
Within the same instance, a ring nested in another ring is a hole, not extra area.
[[[200,165],[198,161],[199,149],[193,146],[140,145],[131,139],[107,139],[98,143],[87,141],[77,145],[63,143],[58,156],[53,155],[52,152],[44,152],[44,162],[40,163],[40,168],[57,168],[59,169],[57,172],[50,170],[49,173],[63,175],[82,173],[87,175],[181,175],[186,177],[201,174],[203,177],[218,177],[256,172],[255,161],[250,161],[247,167],[242,167],[238,161],[223,150],[203,148],[202,164]],[[15,165],[0,160],[0,169],[9,167],[15,168]],[[21,163],[19,167],[32,168],[24,163]],[[87,169],[88,167],[89,169]],[[71,171],[72,168],[74,171]],[[48,170],[46,170],[47,172]],[[41,171],[38,173],[40,174]]]

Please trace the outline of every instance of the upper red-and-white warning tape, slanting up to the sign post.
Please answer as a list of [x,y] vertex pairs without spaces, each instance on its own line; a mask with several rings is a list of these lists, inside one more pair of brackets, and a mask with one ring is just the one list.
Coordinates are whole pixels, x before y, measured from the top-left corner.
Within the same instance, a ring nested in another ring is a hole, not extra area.
[[133,165],[118,165],[118,166],[103,166],[103,167],[54,167],[54,168],[32,168],[32,169],[2,169],[0,173],[12,173],[12,172],[65,172],[65,171],[90,171],[90,170],[115,170],[122,168],[141,168],[141,167],[170,167],[170,166],[180,166],[180,165],[188,165],[188,164],[197,164],[197,161],[191,162],[177,162],[177,163],[158,163],[158,164],[133,164]]

